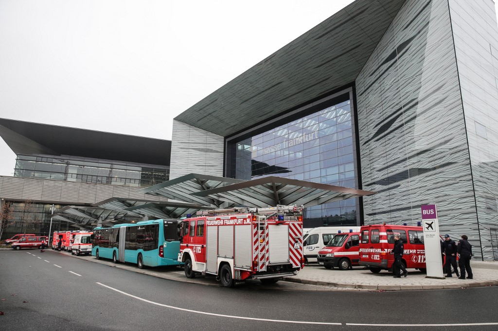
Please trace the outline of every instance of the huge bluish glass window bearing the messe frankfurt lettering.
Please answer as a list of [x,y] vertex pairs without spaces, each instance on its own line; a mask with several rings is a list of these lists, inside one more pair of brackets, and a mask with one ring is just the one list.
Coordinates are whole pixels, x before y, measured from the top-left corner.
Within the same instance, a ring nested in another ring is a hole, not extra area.
[[[239,179],[280,176],[357,188],[351,101],[263,133],[229,142],[228,173]],[[305,209],[305,227],[356,225],[357,200]]]

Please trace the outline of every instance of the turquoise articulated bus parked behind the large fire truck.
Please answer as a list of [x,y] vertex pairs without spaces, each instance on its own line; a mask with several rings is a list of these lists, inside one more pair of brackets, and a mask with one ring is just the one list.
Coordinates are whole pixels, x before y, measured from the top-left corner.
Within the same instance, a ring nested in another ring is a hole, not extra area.
[[92,255],[114,263],[144,266],[178,265],[180,220],[153,220],[95,228]]

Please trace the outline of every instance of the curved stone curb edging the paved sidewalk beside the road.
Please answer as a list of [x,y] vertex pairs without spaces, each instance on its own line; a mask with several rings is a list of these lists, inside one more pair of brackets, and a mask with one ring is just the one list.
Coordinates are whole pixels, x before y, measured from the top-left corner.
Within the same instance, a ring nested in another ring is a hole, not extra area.
[[383,291],[439,290],[439,289],[448,289],[448,288],[498,286],[498,280],[489,280],[489,281],[462,283],[462,284],[441,284],[441,285],[364,285],[364,284],[333,283],[333,282],[315,281],[315,280],[300,279],[300,278],[283,278],[283,281],[308,284],[308,285],[331,286],[331,287],[340,287],[340,288],[349,288],[349,289],[383,290]]

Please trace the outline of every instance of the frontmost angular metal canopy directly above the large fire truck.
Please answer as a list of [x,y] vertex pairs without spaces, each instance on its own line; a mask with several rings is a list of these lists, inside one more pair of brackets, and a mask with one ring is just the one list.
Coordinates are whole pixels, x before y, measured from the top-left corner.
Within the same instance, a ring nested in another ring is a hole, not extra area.
[[192,195],[211,197],[248,207],[303,205],[311,207],[375,192],[303,180],[268,176],[224,187],[204,190]]

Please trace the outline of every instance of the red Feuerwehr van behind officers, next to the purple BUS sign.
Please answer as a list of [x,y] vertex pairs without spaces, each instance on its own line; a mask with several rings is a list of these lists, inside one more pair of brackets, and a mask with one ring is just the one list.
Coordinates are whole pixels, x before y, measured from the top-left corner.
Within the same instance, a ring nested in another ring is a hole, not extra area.
[[425,271],[425,247],[422,227],[405,225],[362,226],[360,238],[360,265],[370,268],[373,273],[380,270],[392,271],[394,255],[394,235],[403,242],[402,263],[406,268]]

